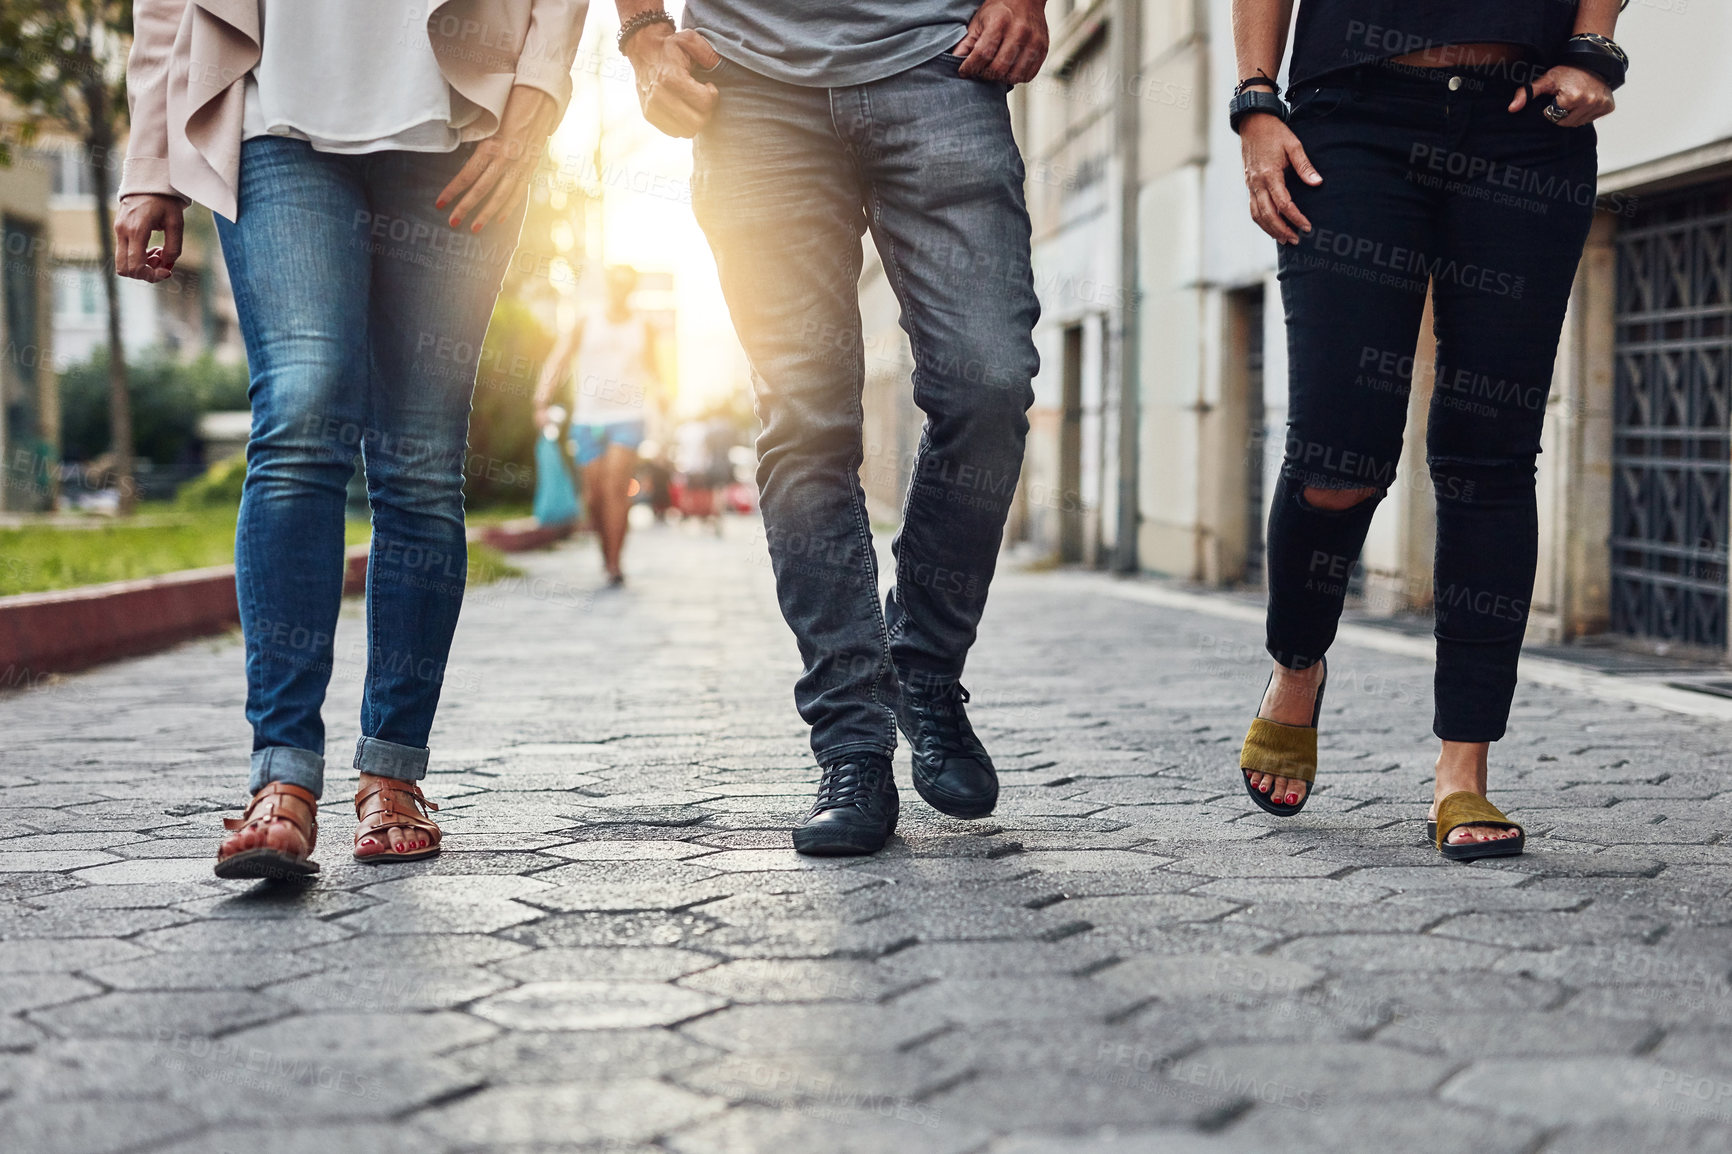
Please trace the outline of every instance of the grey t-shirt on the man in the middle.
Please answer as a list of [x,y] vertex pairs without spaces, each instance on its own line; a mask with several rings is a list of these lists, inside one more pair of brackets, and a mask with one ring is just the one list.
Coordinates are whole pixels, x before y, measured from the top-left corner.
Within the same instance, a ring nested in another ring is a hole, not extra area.
[[864,85],[923,64],[968,31],[980,0],[686,0],[682,28],[790,85]]

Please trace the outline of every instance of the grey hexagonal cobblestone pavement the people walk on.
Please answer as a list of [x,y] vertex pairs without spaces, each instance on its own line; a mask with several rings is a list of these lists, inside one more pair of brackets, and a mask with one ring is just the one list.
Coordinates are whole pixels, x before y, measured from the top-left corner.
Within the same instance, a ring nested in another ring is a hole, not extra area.
[[210,877],[232,638],[0,697],[0,1149],[1729,1149],[1732,726],[1524,686],[1529,851],[1446,865],[1422,662],[1335,652],[1283,823],[1235,771],[1254,626],[1006,575],[968,677],[999,813],[904,785],[890,849],[804,861],[760,539],[629,560],[466,608],[430,863],[350,861],[339,768],[315,884]]

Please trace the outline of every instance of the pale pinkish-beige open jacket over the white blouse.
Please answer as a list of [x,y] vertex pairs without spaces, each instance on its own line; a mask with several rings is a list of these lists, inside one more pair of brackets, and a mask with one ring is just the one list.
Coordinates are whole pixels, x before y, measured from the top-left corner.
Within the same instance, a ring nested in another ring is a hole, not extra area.
[[[513,85],[572,99],[572,59],[587,0],[426,0],[428,40],[454,100],[480,114],[478,140],[499,128]],[[126,102],[132,139],[121,198],[158,192],[229,220],[241,187],[246,75],[258,64],[258,0],[137,0]],[[464,109],[468,111],[468,109]]]

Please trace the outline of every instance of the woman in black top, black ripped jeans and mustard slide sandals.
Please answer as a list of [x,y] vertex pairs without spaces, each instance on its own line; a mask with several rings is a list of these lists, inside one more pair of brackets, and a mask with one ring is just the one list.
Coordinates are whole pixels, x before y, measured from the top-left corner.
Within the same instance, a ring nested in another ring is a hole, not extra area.
[[1251,215],[1280,243],[1287,312],[1287,457],[1266,551],[1275,669],[1240,752],[1268,813],[1296,814],[1311,794],[1323,653],[1394,482],[1429,291],[1443,742],[1431,837],[1453,859],[1522,851],[1521,825],[1486,801],[1488,757],[1533,596],[1535,454],[1593,220],[1592,121],[1628,62],[1611,40],[1619,7],[1462,0],[1396,16],[1387,0],[1301,0],[1289,107],[1273,76],[1292,0],[1233,3],[1230,120]]

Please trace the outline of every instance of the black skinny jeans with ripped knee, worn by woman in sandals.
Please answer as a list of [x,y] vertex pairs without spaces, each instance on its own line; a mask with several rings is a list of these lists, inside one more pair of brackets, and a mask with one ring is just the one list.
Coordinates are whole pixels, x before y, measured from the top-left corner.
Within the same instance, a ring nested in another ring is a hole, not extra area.
[[[1535,454],[1595,201],[1593,128],[1557,128],[1540,104],[1512,114],[1512,94],[1510,80],[1472,69],[1367,66],[1304,85],[1292,102],[1323,184],[1289,173],[1311,234],[1280,253],[1290,376],[1268,646],[1304,669],[1335,639],[1347,575],[1401,456],[1429,284],[1432,729],[1448,742],[1495,742],[1509,721],[1538,558]],[[1375,492],[1328,511],[1306,489]]]

